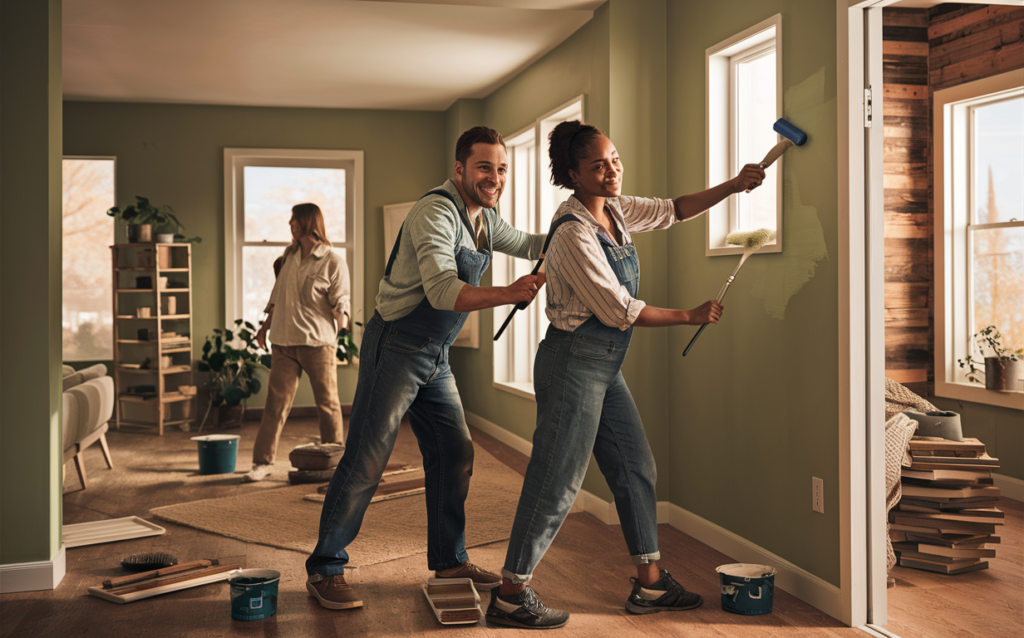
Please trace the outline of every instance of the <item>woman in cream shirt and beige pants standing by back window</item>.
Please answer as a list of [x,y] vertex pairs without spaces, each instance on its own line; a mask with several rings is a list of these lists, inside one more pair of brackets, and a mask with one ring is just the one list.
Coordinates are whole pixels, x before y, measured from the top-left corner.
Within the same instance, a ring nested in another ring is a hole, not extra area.
[[292,244],[285,249],[266,306],[266,321],[256,333],[264,350],[267,333],[272,345],[266,406],[253,448],[253,468],[246,481],[266,478],[278,452],[278,440],[292,409],[302,372],[309,375],[321,442],[344,443],[338,401],[338,331],[348,327],[348,266],[331,250],[324,214],[315,204],[292,207],[288,225]]

